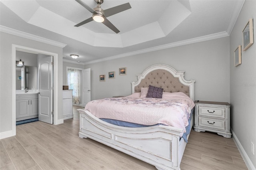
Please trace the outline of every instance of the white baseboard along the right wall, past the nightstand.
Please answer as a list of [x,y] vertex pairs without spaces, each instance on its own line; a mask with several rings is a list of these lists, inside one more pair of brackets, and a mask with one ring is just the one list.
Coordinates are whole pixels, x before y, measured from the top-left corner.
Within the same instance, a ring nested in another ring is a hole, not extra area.
[[232,128],[230,128],[232,135],[233,135],[233,139],[234,142],[236,143],[236,146],[240,152],[240,154],[242,155],[242,158],[244,159],[244,162],[247,166],[247,168],[249,170],[256,170],[256,168],[254,167],[254,165],[252,164],[252,161],[250,160],[249,156],[247,155],[247,153],[245,152],[242,144],[240,143],[240,141],[238,140],[238,138],[236,137],[236,134],[234,133],[234,131],[232,130]]

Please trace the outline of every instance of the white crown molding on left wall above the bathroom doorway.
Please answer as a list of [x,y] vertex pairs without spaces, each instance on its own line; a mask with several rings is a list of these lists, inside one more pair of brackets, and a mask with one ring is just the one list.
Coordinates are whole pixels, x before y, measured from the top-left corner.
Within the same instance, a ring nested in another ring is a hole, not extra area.
[[64,43],[56,42],[56,41],[53,41],[53,40],[49,40],[49,39],[46,39],[46,38],[35,36],[33,34],[29,34],[29,33],[26,33],[26,32],[14,30],[12,28],[8,28],[6,26],[1,26],[1,25],[0,25],[0,32],[5,32],[5,33],[12,34],[12,35],[15,35],[15,36],[28,38],[30,40],[35,40],[35,41],[38,41],[38,42],[47,43],[47,44],[54,45],[54,46],[61,47],[61,48],[65,47],[67,45],[67,44],[64,44]]

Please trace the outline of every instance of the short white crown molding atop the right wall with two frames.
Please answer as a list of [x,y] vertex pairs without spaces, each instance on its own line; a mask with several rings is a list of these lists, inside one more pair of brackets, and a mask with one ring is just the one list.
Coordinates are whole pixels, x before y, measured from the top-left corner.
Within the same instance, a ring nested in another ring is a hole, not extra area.
[[244,6],[244,2],[245,0],[238,0],[238,1],[235,1],[235,5],[234,5],[234,8],[233,8],[233,11],[232,11],[232,14],[231,14],[231,17],[230,17],[230,22],[228,24],[228,28],[227,28],[227,33],[228,35],[231,34],[235,24],[236,24],[236,20]]

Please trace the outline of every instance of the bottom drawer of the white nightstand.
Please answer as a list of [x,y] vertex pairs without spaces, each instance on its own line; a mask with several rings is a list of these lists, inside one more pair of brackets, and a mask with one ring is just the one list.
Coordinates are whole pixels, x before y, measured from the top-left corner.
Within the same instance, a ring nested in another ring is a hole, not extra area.
[[199,126],[225,130],[225,120],[199,117]]

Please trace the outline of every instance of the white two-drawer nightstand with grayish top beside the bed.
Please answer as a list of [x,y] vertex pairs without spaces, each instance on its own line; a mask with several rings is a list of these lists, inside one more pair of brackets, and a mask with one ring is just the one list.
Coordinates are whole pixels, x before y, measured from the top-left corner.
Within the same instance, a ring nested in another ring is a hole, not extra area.
[[196,132],[216,132],[226,138],[231,138],[230,104],[224,102],[195,101]]

